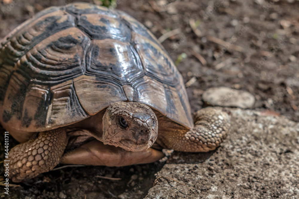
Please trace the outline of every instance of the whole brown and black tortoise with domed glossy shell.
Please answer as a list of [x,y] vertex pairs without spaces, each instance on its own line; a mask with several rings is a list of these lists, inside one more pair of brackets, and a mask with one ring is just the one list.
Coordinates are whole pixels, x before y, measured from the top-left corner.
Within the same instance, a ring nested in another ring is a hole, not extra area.
[[58,163],[154,162],[164,157],[155,145],[207,152],[230,127],[212,107],[193,122],[166,50],[119,10],[74,3],[37,13],[1,40],[0,70],[0,123],[21,143],[7,158],[14,182]]

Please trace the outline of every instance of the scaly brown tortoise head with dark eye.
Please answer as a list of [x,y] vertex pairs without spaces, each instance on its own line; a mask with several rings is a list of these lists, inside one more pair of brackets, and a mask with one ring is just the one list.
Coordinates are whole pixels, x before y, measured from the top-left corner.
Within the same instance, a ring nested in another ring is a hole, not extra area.
[[128,151],[148,149],[157,139],[158,120],[150,107],[138,102],[110,104],[103,116],[103,143]]

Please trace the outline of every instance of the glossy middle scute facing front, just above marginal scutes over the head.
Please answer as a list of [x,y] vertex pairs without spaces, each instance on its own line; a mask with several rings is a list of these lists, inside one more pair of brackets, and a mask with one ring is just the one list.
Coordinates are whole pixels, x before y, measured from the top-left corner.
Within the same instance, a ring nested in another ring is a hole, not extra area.
[[127,42],[95,39],[87,54],[86,74],[98,80],[126,85],[145,75],[135,49]]

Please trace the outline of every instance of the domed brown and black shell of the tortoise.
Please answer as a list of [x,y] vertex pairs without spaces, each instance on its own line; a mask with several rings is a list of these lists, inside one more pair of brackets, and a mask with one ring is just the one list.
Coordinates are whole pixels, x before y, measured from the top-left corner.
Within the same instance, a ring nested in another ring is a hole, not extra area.
[[0,42],[0,121],[37,132],[137,101],[193,127],[181,74],[141,23],[88,3],[50,7]]

